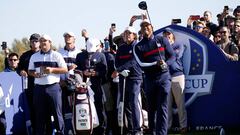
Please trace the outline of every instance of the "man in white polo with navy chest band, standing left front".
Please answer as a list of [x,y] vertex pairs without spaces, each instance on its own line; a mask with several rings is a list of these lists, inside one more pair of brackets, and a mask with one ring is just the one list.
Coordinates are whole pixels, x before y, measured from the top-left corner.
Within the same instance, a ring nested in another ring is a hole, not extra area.
[[[54,125],[57,135],[64,135],[62,116],[62,90],[60,74],[67,72],[62,55],[51,49],[52,40],[48,35],[40,37],[41,50],[32,55],[28,73],[35,78],[33,105],[35,111],[35,135],[51,135]],[[51,118],[54,118],[52,122]]]

